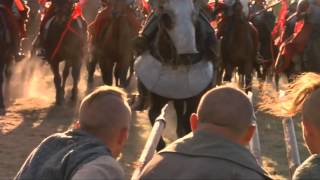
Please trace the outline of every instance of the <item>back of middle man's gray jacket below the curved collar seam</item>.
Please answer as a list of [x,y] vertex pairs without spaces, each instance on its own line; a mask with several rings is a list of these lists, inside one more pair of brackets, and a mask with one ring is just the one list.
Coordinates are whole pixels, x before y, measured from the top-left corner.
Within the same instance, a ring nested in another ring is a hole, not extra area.
[[156,154],[144,167],[140,180],[148,179],[271,179],[240,164],[211,157],[179,153]]

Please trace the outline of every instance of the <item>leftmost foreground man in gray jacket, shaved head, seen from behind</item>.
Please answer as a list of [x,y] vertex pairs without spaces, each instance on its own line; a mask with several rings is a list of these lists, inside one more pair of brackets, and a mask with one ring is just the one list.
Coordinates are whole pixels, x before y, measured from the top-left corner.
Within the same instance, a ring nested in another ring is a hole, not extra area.
[[78,127],[42,141],[15,179],[124,179],[115,158],[128,138],[130,120],[125,93],[98,88],[82,101]]

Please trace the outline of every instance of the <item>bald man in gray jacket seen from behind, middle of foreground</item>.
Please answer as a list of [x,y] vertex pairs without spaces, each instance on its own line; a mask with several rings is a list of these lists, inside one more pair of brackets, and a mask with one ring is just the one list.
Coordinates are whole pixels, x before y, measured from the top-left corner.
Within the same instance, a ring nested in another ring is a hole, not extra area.
[[247,96],[231,87],[206,93],[190,118],[192,133],[169,145],[141,179],[270,179],[246,145],[255,132]]

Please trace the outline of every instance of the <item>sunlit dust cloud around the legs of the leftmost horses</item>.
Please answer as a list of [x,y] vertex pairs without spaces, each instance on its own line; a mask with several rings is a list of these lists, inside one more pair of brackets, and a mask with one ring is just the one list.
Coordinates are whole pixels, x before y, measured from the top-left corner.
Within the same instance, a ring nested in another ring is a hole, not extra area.
[[[64,62],[60,63],[60,72],[64,68]],[[53,73],[49,64],[38,57],[25,58],[23,61],[15,63],[11,67],[12,77],[8,88],[6,88],[9,101],[15,99],[40,99],[48,103],[55,102],[55,86],[53,82]],[[60,73],[61,74],[61,73]],[[81,70],[79,82],[79,99],[87,93],[85,67]],[[68,101],[70,90],[72,88],[71,73],[68,77],[65,88],[65,100]]]

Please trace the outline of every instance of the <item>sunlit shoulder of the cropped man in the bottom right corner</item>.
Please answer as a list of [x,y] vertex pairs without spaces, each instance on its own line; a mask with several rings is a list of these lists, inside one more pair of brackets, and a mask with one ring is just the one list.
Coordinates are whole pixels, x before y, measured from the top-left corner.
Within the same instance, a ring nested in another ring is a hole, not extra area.
[[311,155],[295,171],[293,180],[319,179],[320,155]]

